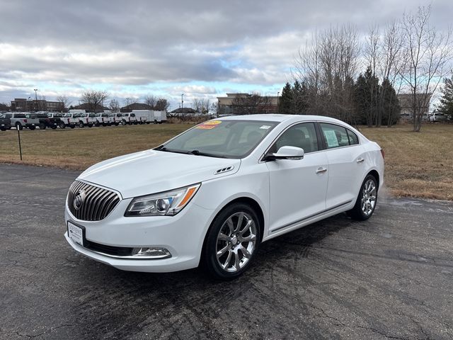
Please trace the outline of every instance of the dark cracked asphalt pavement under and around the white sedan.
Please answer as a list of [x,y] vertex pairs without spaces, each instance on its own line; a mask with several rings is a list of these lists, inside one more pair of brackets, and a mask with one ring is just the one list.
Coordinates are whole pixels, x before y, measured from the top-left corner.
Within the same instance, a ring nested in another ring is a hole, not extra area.
[[129,273],[63,237],[77,173],[0,165],[1,339],[453,339],[453,203],[380,198],[265,242],[253,268]]

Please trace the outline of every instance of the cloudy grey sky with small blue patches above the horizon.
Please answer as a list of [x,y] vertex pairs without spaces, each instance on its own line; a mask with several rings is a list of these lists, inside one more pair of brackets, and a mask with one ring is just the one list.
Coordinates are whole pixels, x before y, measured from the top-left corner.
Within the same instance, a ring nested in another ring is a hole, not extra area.
[[[142,101],[185,94],[273,95],[290,79],[299,47],[315,30],[350,23],[363,35],[427,1],[21,1],[0,0],[0,103],[85,89]],[[452,0],[432,1],[446,29]]]

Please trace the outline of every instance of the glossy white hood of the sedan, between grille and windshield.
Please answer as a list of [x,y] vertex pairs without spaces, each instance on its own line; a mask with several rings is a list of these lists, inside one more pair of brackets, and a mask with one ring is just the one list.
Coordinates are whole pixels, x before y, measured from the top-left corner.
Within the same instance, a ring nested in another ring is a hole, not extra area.
[[[115,189],[122,198],[131,198],[229,176],[238,171],[240,165],[240,159],[151,149],[95,164],[86,169],[79,179]],[[230,166],[231,169],[226,169]]]

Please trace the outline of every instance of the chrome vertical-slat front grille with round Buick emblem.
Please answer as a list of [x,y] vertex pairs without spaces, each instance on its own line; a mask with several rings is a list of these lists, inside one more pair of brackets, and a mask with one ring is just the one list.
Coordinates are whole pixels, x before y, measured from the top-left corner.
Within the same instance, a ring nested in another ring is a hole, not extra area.
[[[75,208],[76,196],[78,198],[79,208]],[[78,220],[82,221],[100,221],[112,212],[115,206],[120,202],[117,193],[91,186],[90,184],[74,181],[69,188],[68,207],[71,214]]]

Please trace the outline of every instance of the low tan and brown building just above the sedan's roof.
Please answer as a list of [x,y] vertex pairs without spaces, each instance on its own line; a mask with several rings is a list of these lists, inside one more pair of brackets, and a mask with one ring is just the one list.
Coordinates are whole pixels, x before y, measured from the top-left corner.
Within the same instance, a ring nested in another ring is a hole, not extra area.
[[277,113],[278,98],[277,96],[259,96],[244,93],[226,94],[226,97],[217,97],[217,114]]

